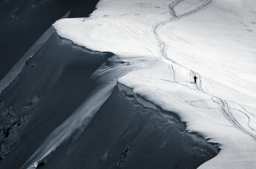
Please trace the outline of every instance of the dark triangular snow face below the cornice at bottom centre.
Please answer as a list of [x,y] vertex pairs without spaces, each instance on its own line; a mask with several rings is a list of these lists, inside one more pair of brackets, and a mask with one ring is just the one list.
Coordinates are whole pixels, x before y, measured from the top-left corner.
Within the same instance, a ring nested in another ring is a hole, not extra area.
[[217,154],[172,112],[146,108],[129,88],[118,87],[81,133],[41,160],[44,167],[197,168]]

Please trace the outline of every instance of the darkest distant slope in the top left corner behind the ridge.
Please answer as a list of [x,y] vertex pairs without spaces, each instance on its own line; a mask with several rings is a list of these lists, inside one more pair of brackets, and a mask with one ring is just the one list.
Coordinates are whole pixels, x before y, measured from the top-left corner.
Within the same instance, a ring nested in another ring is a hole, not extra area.
[[65,14],[65,18],[87,17],[98,1],[0,1],[0,80],[52,23]]

